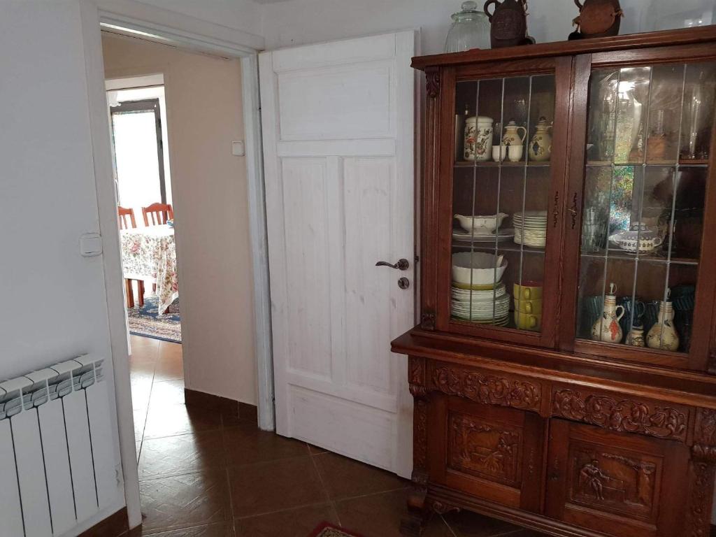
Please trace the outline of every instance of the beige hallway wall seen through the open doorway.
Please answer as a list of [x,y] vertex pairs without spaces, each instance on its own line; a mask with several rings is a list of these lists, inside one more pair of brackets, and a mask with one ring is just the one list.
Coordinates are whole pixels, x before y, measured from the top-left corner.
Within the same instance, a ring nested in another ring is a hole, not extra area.
[[241,64],[103,34],[108,79],[164,75],[186,387],[256,404]]

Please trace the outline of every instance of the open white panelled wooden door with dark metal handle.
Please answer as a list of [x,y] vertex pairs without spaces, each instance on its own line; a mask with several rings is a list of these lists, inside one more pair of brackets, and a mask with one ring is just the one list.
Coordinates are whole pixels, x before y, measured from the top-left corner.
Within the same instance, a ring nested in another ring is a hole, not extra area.
[[259,59],[276,431],[405,476],[414,50],[400,32]]

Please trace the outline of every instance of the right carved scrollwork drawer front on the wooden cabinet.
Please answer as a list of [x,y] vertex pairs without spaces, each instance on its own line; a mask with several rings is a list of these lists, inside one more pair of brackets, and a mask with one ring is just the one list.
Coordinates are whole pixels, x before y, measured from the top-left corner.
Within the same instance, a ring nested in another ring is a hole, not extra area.
[[556,390],[552,415],[619,432],[686,440],[688,410],[637,399],[621,399],[576,390]]

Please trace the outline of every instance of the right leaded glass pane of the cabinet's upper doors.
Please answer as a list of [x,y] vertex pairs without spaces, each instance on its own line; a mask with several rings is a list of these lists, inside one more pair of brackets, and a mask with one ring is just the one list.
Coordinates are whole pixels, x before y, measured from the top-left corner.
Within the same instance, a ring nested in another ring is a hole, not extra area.
[[716,63],[595,70],[589,85],[576,337],[668,364],[694,337]]

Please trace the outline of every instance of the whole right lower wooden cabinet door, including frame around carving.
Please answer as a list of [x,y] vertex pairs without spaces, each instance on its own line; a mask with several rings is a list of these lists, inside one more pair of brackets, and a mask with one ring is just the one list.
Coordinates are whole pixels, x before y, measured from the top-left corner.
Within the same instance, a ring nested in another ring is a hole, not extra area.
[[619,537],[673,537],[688,463],[678,442],[551,420],[546,515]]

